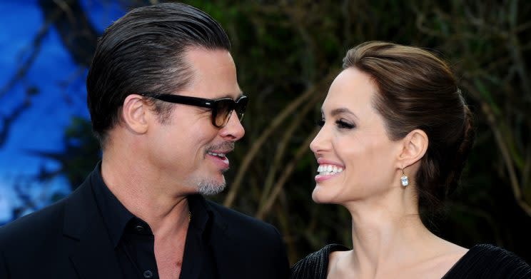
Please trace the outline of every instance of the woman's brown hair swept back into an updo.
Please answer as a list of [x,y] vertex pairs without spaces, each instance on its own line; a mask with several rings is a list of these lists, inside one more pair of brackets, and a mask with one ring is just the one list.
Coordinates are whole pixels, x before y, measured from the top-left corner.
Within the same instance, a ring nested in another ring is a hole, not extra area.
[[350,49],[343,69],[350,67],[367,73],[377,86],[373,106],[391,140],[415,129],[428,135],[415,185],[420,209],[434,213],[457,187],[475,136],[472,114],[450,67],[423,49],[381,41]]

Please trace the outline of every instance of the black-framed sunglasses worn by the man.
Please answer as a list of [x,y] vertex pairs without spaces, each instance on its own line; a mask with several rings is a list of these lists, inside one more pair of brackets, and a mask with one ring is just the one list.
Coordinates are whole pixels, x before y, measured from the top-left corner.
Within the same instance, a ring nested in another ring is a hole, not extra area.
[[236,111],[238,119],[243,118],[243,113],[246,112],[247,96],[240,96],[236,101],[231,98],[218,98],[211,100],[208,98],[197,98],[191,96],[173,95],[173,94],[141,94],[142,96],[156,98],[157,100],[181,103],[189,106],[201,106],[202,108],[210,108],[212,110],[212,124],[217,128],[223,128],[227,125],[231,118],[232,111]]

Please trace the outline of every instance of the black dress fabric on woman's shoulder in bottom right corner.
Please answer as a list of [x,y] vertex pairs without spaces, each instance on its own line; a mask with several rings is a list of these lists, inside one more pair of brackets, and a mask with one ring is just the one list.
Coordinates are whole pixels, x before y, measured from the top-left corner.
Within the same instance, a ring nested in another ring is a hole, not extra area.
[[531,278],[531,267],[514,253],[490,244],[470,248],[443,277],[452,278]]

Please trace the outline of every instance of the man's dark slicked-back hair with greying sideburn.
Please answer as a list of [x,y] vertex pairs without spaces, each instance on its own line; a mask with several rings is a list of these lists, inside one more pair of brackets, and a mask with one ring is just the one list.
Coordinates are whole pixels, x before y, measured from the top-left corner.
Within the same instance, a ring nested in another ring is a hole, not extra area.
[[[191,81],[186,50],[231,50],[226,32],[203,11],[165,3],[129,11],[109,26],[96,46],[87,76],[87,104],[94,134],[105,145],[133,93],[176,93]],[[154,101],[161,122],[171,112]]]

